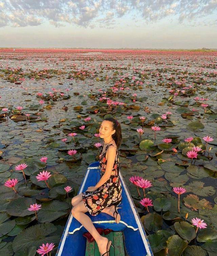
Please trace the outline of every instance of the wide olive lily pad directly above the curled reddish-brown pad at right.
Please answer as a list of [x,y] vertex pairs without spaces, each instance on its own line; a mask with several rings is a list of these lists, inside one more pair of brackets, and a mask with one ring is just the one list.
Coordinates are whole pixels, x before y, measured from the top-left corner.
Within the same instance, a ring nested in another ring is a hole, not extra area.
[[193,181],[192,183],[189,183],[189,185],[184,186],[184,188],[188,192],[192,192],[198,196],[213,196],[216,190],[213,188],[213,186],[204,187],[204,184],[205,183],[202,181]]

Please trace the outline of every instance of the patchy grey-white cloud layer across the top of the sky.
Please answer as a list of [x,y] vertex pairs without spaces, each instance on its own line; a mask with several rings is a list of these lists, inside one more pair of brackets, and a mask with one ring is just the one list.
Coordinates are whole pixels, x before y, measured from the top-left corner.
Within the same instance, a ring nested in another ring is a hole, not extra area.
[[69,23],[111,28],[116,19],[135,13],[146,23],[170,16],[176,16],[180,23],[195,22],[216,9],[217,0],[3,0],[0,26],[37,26],[49,21],[55,27]]

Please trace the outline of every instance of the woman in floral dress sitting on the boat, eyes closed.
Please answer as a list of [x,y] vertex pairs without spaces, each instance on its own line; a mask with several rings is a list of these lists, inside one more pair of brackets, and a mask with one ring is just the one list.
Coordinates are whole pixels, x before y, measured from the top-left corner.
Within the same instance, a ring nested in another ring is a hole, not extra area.
[[[119,178],[118,147],[121,144],[121,126],[114,118],[105,118],[99,128],[100,138],[103,138],[103,147],[99,155],[100,177],[95,186],[73,197],[72,215],[94,237],[101,256],[109,256],[112,241],[101,236],[94,227],[91,219],[85,214],[92,216],[100,212],[107,213],[120,222],[120,214],[117,206],[122,200],[122,188]],[[113,246],[113,245],[112,245]]]

